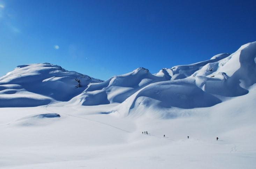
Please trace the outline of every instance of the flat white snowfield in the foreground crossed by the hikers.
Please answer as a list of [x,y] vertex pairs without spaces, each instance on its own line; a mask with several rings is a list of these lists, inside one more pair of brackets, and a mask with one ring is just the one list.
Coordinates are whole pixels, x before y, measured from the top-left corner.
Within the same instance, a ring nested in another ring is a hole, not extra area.
[[254,86],[247,95],[176,109],[179,116],[165,119],[154,111],[136,118],[100,114],[111,104],[0,108],[0,168],[254,169],[255,94]]

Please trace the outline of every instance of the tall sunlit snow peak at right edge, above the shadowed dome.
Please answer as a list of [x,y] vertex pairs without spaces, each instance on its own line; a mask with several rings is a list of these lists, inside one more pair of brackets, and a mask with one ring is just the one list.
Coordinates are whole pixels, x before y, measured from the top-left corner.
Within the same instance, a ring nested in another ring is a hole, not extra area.
[[198,87],[211,94],[235,97],[248,93],[256,83],[256,42],[241,46],[219,62],[207,64],[195,72]]

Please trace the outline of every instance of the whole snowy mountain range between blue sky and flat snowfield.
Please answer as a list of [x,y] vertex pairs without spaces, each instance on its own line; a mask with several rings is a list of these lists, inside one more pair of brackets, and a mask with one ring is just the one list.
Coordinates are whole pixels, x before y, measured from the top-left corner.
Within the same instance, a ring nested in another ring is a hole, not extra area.
[[49,63],[20,65],[0,78],[0,107],[69,100],[68,104],[87,106],[122,103],[119,107],[126,115],[141,105],[209,107],[248,93],[256,82],[255,55],[256,42],[252,42],[233,54],[215,55],[207,61],[156,74],[140,67],[107,81]]

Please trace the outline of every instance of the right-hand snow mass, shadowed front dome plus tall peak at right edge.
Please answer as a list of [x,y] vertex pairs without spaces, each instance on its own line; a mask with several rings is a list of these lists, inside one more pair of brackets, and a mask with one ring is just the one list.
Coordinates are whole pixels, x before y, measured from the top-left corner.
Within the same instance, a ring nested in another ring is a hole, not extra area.
[[[131,112],[145,113],[148,108],[152,112],[158,107],[210,107],[230,97],[245,95],[249,87],[256,83],[255,56],[256,42],[253,42],[241,46],[235,53],[217,62],[192,64],[192,70],[195,67],[198,69],[198,65],[202,67],[188,78],[149,84],[127,98],[117,110],[126,116]],[[221,57],[215,56],[210,61],[216,58]],[[188,71],[183,75],[190,73]]]

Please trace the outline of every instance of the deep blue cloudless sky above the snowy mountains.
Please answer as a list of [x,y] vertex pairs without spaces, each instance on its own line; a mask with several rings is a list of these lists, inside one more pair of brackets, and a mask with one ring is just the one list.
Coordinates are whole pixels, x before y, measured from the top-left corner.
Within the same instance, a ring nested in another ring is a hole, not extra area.
[[107,80],[256,41],[255,1],[0,0],[0,76],[49,62]]

